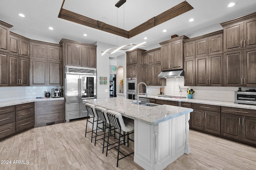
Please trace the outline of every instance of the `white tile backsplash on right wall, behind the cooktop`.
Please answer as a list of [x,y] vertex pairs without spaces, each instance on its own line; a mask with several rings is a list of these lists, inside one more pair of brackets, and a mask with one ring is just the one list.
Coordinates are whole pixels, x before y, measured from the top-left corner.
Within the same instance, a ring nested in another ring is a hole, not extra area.
[[[179,89],[181,88],[181,92]],[[213,86],[184,86],[184,77],[167,78],[164,87],[165,95],[187,97],[187,88],[193,89],[193,98],[234,102],[234,92],[238,87],[213,87]],[[255,88],[242,87],[242,91]],[[148,93],[151,95],[160,94],[160,86],[148,86]]]

